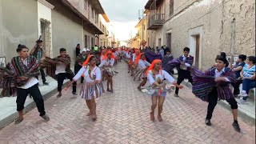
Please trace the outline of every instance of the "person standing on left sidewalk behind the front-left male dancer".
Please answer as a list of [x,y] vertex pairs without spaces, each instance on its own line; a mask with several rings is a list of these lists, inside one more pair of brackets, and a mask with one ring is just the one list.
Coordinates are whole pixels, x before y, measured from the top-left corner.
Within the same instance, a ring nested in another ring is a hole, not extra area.
[[34,46],[34,49],[30,51],[30,55],[33,55],[35,58],[37,58],[37,62],[40,64],[40,73],[42,76],[42,83],[44,85],[49,85],[48,82],[46,82],[46,74],[43,70],[42,61],[46,58],[46,54],[44,50],[42,50],[42,40],[37,40],[36,45]]

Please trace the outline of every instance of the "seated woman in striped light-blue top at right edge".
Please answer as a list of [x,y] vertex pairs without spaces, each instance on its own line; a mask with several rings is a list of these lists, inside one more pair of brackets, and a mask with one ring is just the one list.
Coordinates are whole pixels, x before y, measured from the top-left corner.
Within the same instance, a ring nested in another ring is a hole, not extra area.
[[240,96],[240,103],[245,103],[248,98],[249,90],[255,87],[255,63],[256,58],[254,56],[250,56],[247,58],[246,65],[243,66],[242,71],[240,73],[242,78],[242,92],[238,96]]

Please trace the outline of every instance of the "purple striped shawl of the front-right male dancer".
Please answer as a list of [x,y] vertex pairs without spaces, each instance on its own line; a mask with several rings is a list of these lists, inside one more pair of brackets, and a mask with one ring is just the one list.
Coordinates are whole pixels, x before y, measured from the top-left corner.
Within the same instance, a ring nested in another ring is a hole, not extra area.
[[228,100],[230,98],[234,98],[229,87],[230,83],[236,82],[234,72],[230,70],[230,68],[225,68],[225,72],[222,73],[221,76],[228,78],[230,82],[215,82],[215,70],[216,68],[206,70],[206,73],[202,73],[201,71],[191,67],[190,71],[193,78],[192,93],[196,97],[201,98],[202,101],[208,102],[210,92],[214,87],[217,87],[219,99]]

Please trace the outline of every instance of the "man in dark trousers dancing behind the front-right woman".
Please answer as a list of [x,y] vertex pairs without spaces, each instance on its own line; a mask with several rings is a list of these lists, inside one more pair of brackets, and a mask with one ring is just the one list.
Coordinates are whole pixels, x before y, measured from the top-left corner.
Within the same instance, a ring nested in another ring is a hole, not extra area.
[[[193,65],[194,62],[194,57],[192,57],[190,54],[190,48],[185,47],[183,49],[183,53],[184,55],[182,55],[180,58],[178,58],[178,60],[180,61],[180,66],[178,67],[178,80],[177,80],[177,84],[181,84],[182,81],[184,81],[184,79],[188,79],[189,82],[192,84],[193,79],[190,75],[190,66]],[[176,87],[175,90],[175,97],[178,97],[178,87]]]

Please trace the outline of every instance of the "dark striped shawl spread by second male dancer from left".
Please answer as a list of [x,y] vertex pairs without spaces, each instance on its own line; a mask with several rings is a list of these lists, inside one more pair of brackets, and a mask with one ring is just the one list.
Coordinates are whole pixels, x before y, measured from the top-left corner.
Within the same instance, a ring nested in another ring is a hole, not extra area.
[[44,65],[47,66],[47,74],[51,77],[56,79],[55,71],[56,71],[56,64],[54,62],[63,62],[66,64],[66,73],[74,75],[73,71],[70,69],[70,55],[66,54],[66,57],[62,58],[58,56],[56,58],[48,58],[44,59]]

